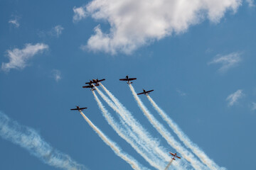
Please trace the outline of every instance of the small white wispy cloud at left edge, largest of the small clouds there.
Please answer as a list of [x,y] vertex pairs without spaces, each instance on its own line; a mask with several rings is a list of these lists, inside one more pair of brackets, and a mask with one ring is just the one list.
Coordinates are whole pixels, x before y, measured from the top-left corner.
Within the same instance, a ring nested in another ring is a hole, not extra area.
[[27,66],[26,62],[28,59],[47,49],[48,45],[37,43],[36,45],[26,44],[21,50],[18,48],[7,50],[7,56],[10,61],[7,63],[3,62],[1,64],[1,69],[4,70],[4,72],[9,72],[10,69],[23,69]]

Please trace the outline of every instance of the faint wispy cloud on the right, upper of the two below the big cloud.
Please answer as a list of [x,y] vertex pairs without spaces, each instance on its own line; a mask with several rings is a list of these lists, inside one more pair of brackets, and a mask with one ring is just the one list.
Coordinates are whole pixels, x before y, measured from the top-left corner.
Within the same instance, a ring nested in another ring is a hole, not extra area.
[[228,55],[217,55],[213,61],[208,64],[222,64],[222,67],[218,69],[220,72],[225,72],[228,69],[235,67],[238,65],[238,62],[241,62],[241,53],[240,52],[232,52]]

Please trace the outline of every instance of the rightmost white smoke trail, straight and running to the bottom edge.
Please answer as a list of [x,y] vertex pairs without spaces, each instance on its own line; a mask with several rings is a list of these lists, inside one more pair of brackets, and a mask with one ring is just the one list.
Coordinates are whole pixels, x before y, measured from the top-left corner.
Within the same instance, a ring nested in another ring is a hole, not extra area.
[[168,123],[169,127],[174,130],[178,138],[183,142],[186,147],[190,148],[194,154],[203,162],[206,164],[210,169],[220,169],[220,167],[213,162],[196,144],[194,144],[187,135],[184,134],[184,132],[178,127],[174,121],[169,118],[166,113],[159,108],[159,106],[156,105],[156,103],[153,101],[153,99],[150,96],[146,96],[149,101],[151,102],[151,105],[155,108],[155,110],[161,115],[161,118],[163,118],[166,123]]

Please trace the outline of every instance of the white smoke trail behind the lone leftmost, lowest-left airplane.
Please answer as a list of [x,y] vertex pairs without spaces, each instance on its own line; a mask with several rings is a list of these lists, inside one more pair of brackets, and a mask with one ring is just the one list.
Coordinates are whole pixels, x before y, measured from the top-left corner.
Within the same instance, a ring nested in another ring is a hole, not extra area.
[[82,117],[86,120],[86,122],[90,125],[90,127],[95,130],[97,135],[100,136],[100,138],[105,142],[105,144],[109,145],[111,149],[114,151],[115,154],[117,154],[118,157],[121,157],[124,159],[125,162],[130,164],[132,166],[132,169],[140,170],[140,169],[146,169],[142,167],[139,162],[137,162],[133,157],[129,156],[129,154],[125,154],[122,152],[122,149],[117,146],[114,142],[112,142],[100,129],[98,129],[86,116],[82,111],[80,111],[80,114]]

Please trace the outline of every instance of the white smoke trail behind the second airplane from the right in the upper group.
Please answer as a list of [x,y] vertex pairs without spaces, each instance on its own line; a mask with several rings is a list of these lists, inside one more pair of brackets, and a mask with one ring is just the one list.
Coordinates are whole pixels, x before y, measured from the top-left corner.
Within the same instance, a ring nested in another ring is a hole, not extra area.
[[164,126],[161,125],[161,123],[159,123],[159,121],[156,120],[156,118],[154,118],[153,115],[151,115],[151,113],[147,110],[147,108],[144,106],[142,101],[137,96],[136,92],[134,91],[134,88],[133,88],[132,84],[129,84],[129,87],[132,91],[132,94],[133,94],[135,100],[138,103],[139,108],[141,108],[142,112],[144,113],[146,118],[149,120],[151,125],[153,125],[154,128],[156,128],[156,130],[161,134],[162,137],[164,137],[164,139],[169,143],[169,145],[171,145],[171,147],[173,147],[178,152],[180,152],[181,155],[188,162],[191,162],[191,165],[193,166],[194,169],[197,169],[197,170],[198,169],[205,169],[206,167],[203,166],[203,164],[201,164],[201,162],[198,162],[198,160],[193,156],[193,154],[191,154],[191,152],[188,152],[187,149],[182,147],[182,145],[174,139],[174,137],[169,133],[169,131],[166,130],[164,128]]

